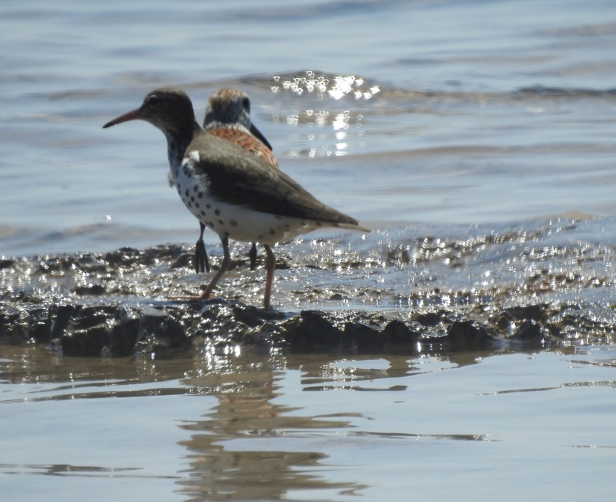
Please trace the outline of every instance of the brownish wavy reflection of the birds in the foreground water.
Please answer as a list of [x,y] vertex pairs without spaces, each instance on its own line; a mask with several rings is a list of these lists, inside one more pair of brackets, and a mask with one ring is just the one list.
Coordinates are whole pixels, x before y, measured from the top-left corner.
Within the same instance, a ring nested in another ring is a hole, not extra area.
[[[190,439],[181,443],[190,452],[187,479],[178,482],[182,492],[190,494],[188,500],[278,500],[294,490],[360,490],[360,484],[332,482],[317,474],[325,468],[325,453],[275,448],[281,442],[276,439],[286,444],[288,431],[298,437],[298,431],[344,429],[349,421],[292,414],[301,408],[278,404],[276,399],[283,395],[277,392],[283,359],[260,365],[245,362],[243,369],[222,373],[195,369],[182,381],[217,399],[204,420],[180,425],[191,432]],[[258,438],[267,445],[259,442],[261,450],[251,449]],[[246,444],[243,439],[251,441]],[[237,442],[246,447],[238,448]]]

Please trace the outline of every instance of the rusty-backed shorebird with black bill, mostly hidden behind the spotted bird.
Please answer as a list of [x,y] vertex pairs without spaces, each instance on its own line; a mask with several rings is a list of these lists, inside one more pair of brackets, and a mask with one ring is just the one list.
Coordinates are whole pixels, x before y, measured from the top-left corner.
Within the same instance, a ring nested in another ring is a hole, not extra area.
[[[272,146],[250,120],[250,100],[243,90],[219,89],[214,92],[208,99],[203,128],[211,135],[231,141],[278,167],[272,154]],[[171,172],[169,184],[175,186]],[[197,273],[209,272],[208,253],[203,242],[205,225],[201,222],[199,225],[201,228],[195,245],[195,270]],[[254,242],[249,257],[250,269],[253,270],[257,260],[257,247]]]

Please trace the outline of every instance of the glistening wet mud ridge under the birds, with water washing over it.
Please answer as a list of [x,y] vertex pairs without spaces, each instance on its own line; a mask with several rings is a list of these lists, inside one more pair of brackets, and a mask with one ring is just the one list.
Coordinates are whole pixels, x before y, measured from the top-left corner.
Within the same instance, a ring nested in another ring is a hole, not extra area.
[[[188,245],[4,257],[0,340],[97,357],[238,344],[434,354],[612,343],[614,250],[580,239],[600,224],[299,239],[275,250],[272,311],[259,308],[262,263],[250,271],[239,244],[221,298],[203,301],[169,300],[209,280],[193,273]],[[219,250],[208,251],[215,271]]]

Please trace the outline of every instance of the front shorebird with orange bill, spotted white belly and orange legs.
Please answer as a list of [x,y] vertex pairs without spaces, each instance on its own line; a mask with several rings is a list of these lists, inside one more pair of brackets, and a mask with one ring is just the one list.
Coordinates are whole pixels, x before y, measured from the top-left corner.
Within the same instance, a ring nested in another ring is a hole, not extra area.
[[322,202],[285,173],[234,143],[217,138],[195,119],[188,95],[164,87],[145,96],[139,108],[103,127],[142,119],[167,138],[171,175],[182,201],[200,223],[221,238],[221,267],[199,297],[211,298],[231,263],[229,239],[260,242],[267,254],[263,308],[270,309],[276,260],[270,245],[317,228],[369,231]]

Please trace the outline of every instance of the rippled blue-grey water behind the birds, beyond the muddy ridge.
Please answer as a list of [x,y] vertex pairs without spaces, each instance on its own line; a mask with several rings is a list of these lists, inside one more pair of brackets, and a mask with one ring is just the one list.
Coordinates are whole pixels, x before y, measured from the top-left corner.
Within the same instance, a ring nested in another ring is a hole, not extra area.
[[376,229],[614,213],[609,1],[0,9],[4,255],[195,240],[160,132],[101,129],[158,86],[199,117],[246,90],[280,167]]

